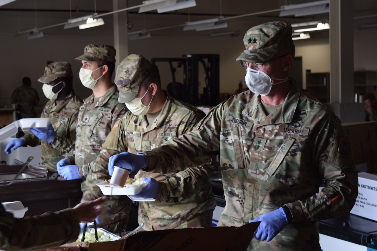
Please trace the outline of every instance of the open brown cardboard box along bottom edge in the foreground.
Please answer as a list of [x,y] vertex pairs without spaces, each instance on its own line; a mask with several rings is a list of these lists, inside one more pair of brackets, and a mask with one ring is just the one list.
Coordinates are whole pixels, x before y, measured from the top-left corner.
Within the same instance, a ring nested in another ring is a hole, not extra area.
[[242,227],[182,228],[173,230],[143,231],[126,240],[110,242],[74,242],[63,246],[88,246],[89,251],[184,251],[216,250],[244,251],[260,222]]

